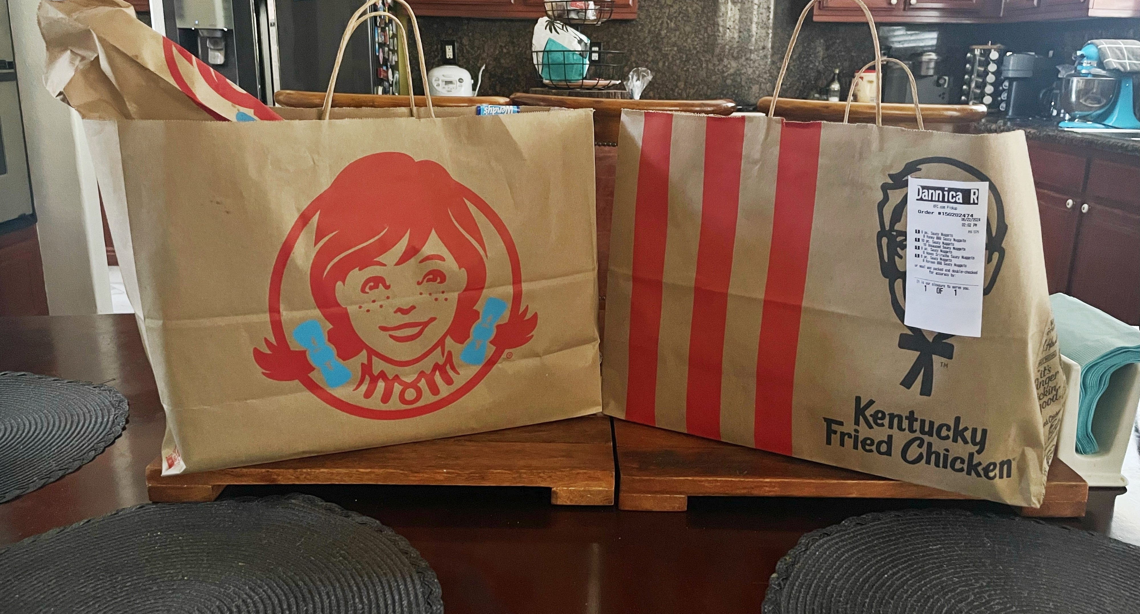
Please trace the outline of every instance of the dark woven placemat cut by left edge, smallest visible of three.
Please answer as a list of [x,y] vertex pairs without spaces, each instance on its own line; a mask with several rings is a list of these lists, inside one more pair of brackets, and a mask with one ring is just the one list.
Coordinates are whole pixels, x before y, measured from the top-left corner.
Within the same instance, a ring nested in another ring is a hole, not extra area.
[[0,371],[0,503],[87,464],[127,425],[109,386]]

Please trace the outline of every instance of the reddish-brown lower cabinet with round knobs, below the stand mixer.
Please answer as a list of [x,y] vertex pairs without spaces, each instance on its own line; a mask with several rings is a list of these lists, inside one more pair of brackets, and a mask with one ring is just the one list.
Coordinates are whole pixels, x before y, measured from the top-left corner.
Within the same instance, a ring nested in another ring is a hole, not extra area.
[[1049,292],[1140,324],[1140,156],[1029,142]]

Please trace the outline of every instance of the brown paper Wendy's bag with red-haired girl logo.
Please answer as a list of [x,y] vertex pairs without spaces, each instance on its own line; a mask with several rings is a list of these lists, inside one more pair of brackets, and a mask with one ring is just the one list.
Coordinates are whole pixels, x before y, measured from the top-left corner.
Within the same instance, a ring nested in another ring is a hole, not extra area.
[[164,474],[601,410],[591,113],[335,111],[85,122]]

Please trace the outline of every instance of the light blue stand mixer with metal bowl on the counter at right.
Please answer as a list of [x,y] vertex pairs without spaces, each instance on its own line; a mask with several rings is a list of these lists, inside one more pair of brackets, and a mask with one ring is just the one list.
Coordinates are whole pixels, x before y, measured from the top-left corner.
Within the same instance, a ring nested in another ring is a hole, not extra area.
[[1062,70],[1060,106],[1073,121],[1059,128],[1083,131],[1135,131],[1133,76],[1140,73],[1140,41],[1092,40],[1073,55],[1072,71]]

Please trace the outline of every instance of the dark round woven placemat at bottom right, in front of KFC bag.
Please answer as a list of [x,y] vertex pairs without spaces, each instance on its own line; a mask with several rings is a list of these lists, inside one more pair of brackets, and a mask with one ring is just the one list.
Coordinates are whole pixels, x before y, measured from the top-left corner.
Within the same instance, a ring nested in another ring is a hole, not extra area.
[[1140,611],[1140,548],[962,510],[868,514],[804,535],[763,614],[1110,614]]

